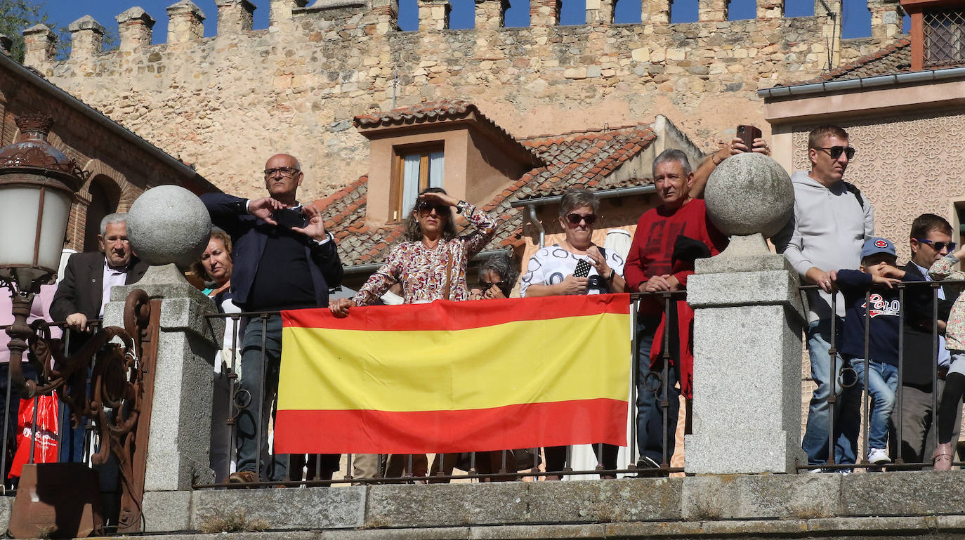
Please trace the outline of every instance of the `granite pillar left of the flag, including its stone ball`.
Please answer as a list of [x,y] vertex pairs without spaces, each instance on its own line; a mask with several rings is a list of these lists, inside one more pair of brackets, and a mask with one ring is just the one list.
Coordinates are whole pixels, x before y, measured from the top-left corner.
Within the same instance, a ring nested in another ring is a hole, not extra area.
[[152,266],[137,284],[111,289],[104,324],[123,326],[124,301],[142,289],[160,300],[143,510],[149,531],[188,528],[191,486],[214,481],[209,465],[214,360],[225,323],[207,318],[214,302],[184,280],[204,251],[211,222],[205,205],[179,186],[144,192],[127,213],[131,248]]

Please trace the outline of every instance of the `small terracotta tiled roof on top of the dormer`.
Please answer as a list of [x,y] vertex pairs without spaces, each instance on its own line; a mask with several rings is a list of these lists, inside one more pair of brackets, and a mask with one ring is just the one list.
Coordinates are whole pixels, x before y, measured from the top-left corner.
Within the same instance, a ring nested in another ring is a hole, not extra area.
[[510,147],[518,148],[524,153],[530,154],[534,166],[542,164],[538,161],[538,157],[533,154],[529,148],[522,147],[516,139],[510,135],[509,131],[497,125],[496,122],[489,120],[476,105],[464,99],[427,101],[418,105],[392,109],[391,111],[359,115],[355,117],[354,121],[356,127],[370,129],[374,127],[411,125],[414,123],[463,120],[471,116],[475,116],[483,130],[488,131],[495,138],[502,140]]

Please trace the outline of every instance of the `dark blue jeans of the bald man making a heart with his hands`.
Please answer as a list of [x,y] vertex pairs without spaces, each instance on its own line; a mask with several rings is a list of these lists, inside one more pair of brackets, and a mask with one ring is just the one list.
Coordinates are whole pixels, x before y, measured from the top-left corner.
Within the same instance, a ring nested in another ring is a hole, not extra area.
[[282,361],[282,316],[268,317],[263,334],[263,358],[261,318],[249,321],[241,341],[241,389],[251,395],[251,401],[238,412],[235,434],[237,470],[256,472],[255,465],[261,453],[262,470],[257,471],[259,476],[262,479],[287,480],[288,454],[268,459],[268,417],[278,395],[278,370]]

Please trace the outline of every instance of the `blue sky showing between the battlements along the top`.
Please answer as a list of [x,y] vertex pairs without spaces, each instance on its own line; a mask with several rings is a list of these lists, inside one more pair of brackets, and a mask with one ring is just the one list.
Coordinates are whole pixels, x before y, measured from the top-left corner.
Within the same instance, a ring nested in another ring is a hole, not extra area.
[[[154,42],[167,40],[167,12],[165,8],[177,0],[47,0],[46,9],[57,24],[67,26],[74,20],[89,14],[97,22],[117,32],[114,16],[132,6],[140,6],[157,19],[154,25]],[[207,15],[205,35],[213,36],[217,25],[217,8],[214,0],[193,0]],[[698,0],[674,0],[672,22],[692,22],[697,20]],[[268,26],[268,0],[253,0],[259,9],[255,10],[255,28]],[[451,25],[453,28],[472,28],[473,0],[450,0],[453,4]],[[529,3],[526,0],[510,0],[507,12],[508,26],[527,26],[529,24]],[[618,0],[617,22],[638,22],[640,20],[640,0]],[[755,0],[731,0],[731,18],[754,18]],[[812,15],[813,0],[786,0],[787,16]],[[585,0],[564,0],[561,19],[564,24],[582,23],[582,10]],[[416,0],[400,0],[400,26],[403,30],[416,28]],[[907,19],[907,17],[905,17]],[[870,35],[870,14],[865,0],[844,0],[842,36],[861,38]],[[907,30],[907,21],[906,21]]]

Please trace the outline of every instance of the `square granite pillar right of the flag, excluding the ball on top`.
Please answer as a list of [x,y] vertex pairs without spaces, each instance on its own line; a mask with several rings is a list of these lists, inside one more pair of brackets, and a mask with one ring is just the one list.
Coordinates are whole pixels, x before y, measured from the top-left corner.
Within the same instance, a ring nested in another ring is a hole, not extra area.
[[[684,439],[684,470],[795,473],[805,459],[797,275],[777,255],[721,260],[698,261],[687,286],[695,311],[694,433]],[[749,271],[752,265],[758,269]]]

